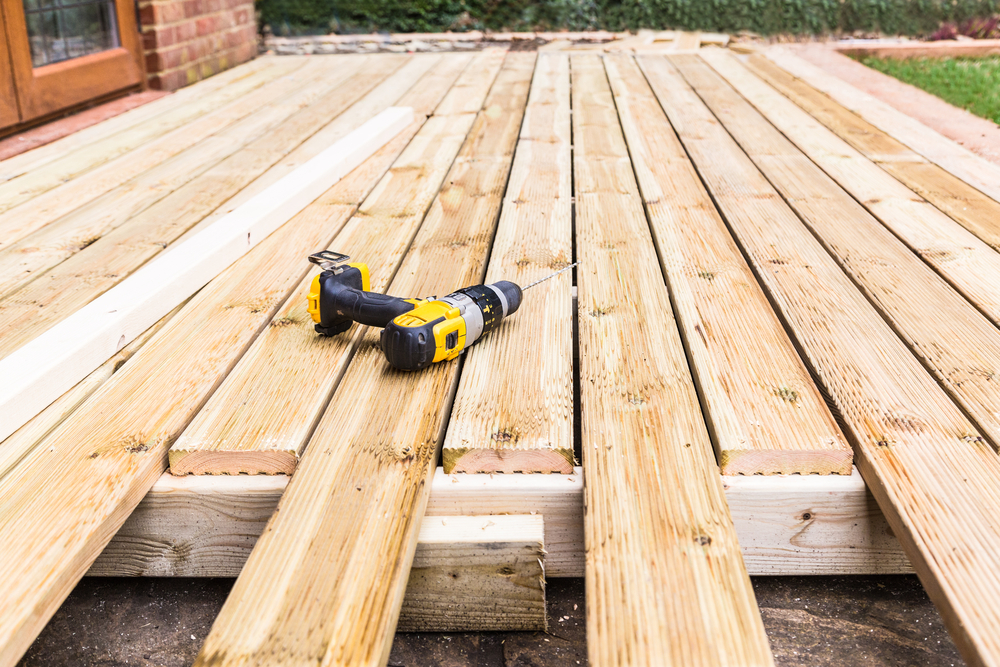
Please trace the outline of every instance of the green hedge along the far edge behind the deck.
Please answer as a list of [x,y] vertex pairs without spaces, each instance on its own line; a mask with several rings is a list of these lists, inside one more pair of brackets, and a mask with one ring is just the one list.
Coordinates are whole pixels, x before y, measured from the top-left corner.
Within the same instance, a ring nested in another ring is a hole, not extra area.
[[883,32],[926,35],[990,16],[1000,0],[257,0],[275,34],[442,30]]

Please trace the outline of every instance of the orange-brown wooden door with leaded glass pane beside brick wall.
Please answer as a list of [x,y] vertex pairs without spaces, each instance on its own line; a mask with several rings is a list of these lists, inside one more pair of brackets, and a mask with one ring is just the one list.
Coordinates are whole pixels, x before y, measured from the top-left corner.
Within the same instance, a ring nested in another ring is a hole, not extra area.
[[0,0],[21,121],[142,83],[133,0]]

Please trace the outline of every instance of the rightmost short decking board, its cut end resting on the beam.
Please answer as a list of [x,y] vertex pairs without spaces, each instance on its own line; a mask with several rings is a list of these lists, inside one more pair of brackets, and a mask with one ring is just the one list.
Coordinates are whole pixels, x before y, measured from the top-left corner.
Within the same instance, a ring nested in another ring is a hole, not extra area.
[[851,448],[635,61],[618,115],[722,474],[851,473]]

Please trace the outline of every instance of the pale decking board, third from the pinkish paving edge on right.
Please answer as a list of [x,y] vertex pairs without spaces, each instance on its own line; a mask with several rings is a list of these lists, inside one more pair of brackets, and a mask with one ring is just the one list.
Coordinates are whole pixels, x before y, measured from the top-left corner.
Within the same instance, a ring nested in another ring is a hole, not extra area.
[[1000,253],[880,169],[822,123],[761,82],[735,59],[708,58],[735,72],[732,83],[798,148],[932,266],[991,321],[1000,324]]

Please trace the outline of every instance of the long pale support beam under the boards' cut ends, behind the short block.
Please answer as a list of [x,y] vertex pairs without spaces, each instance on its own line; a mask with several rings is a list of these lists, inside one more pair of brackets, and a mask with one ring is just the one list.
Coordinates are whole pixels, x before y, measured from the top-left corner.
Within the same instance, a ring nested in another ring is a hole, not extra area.
[[[237,577],[288,479],[165,474],[88,574]],[[722,486],[751,576],[913,572],[857,470],[726,476]],[[546,577],[584,576],[579,467],[572,475],[446,475],[438,468],[423,523],[506,514],[544,518]]]

